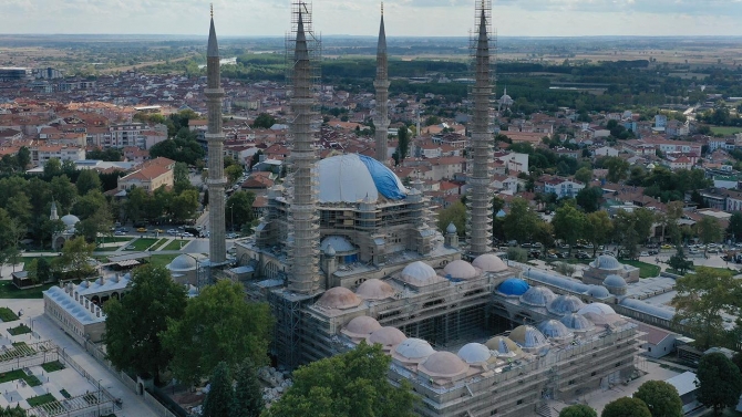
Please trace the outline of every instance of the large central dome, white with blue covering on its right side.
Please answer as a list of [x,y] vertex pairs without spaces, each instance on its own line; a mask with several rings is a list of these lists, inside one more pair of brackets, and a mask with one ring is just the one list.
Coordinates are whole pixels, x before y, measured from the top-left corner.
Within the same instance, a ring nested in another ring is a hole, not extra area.
[[[317,163],[319,202],[401,200],[408,190],[383,164],[363,155],[340,155]],[[367,199],[368,197],[368,199]]]

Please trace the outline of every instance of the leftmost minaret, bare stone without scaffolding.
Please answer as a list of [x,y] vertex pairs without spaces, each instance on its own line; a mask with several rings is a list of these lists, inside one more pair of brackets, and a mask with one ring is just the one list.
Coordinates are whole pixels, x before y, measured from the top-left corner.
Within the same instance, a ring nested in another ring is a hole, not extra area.
[[208,222],[212,229],[208,239],[208,258],[212,265],[219,265],[227,260],[227,243],[225,238],[224,187],[227,179],[224,177],[224,133],[221,132],[221,74],[219,70],[219,45],[214,29],[214,7],[212,7],[212,28],[208,32],[208,49],[206,50],[207,84],[204,94],[208,108]]

